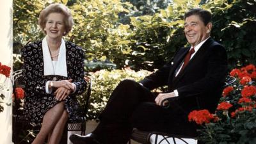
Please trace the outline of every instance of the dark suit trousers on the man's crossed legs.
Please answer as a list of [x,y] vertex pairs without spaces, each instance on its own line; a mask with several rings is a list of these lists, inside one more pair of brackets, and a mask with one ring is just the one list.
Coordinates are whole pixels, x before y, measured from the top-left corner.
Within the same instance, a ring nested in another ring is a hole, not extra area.
[[[182,127],[191,127],[188,116],[165,109],[154,102],[156,95],[131,80],[124,80],[116,86],[108,104],[100,115],[100,124],[93,131],[104,144],[127,143],[132,128],[143,131],[159,131],[184,134]],[[191,131],[189,132],[191,134]]]

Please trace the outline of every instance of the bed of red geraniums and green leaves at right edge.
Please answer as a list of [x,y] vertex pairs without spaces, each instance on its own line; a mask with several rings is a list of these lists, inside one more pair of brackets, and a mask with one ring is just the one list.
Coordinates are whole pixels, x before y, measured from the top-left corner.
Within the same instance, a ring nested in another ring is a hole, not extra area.
[[213,143],[256,143],[256,68],[247,65],[235,68],[230,76],[236,82],[223,90],[223,97],[211,114],[207,109],[191,111],[189,121],[201,125],[199,140]]

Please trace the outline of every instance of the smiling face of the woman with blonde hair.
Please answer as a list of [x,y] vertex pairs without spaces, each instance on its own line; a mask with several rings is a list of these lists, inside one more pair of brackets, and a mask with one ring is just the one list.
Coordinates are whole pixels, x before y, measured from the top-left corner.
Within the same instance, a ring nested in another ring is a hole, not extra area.
[[45,24],[46,35],[52,39],[60,39],[65,33],[64,15],[50,13]]

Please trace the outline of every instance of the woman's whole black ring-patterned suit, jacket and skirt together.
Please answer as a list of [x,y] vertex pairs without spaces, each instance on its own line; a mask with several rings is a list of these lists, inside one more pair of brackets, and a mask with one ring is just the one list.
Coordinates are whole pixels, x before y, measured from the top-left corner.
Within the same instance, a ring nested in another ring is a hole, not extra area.
[[59,81],[63,79],[72,79],[76,84],[76,92],[68,95],[65,99],[65,109],[67,109],[70,120],[77,118],[78,103],[77,93],[82,93],[86,86],[84,81],[84,52],[71,42],[65,42],[67,77],[64,76],[44,76],[44,59],[42,52],[42,41],[33,42],[22,49],[23,73],[25,85],[24,115],[31,122],[41,123],[45,113],[53,106],[58,104],[54,99],[54,93],[45,92],[45,83],[47,81]]

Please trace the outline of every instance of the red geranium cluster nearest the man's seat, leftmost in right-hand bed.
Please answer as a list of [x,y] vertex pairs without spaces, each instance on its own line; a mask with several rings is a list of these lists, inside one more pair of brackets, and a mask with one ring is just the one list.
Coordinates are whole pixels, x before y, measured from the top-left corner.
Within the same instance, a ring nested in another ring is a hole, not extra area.
[[212,115],[207,109],[199,111],[191,111],[188,115],[189,122],[195,121],[196,124],[208,124],[211,120],[218,120],[216,116]]

